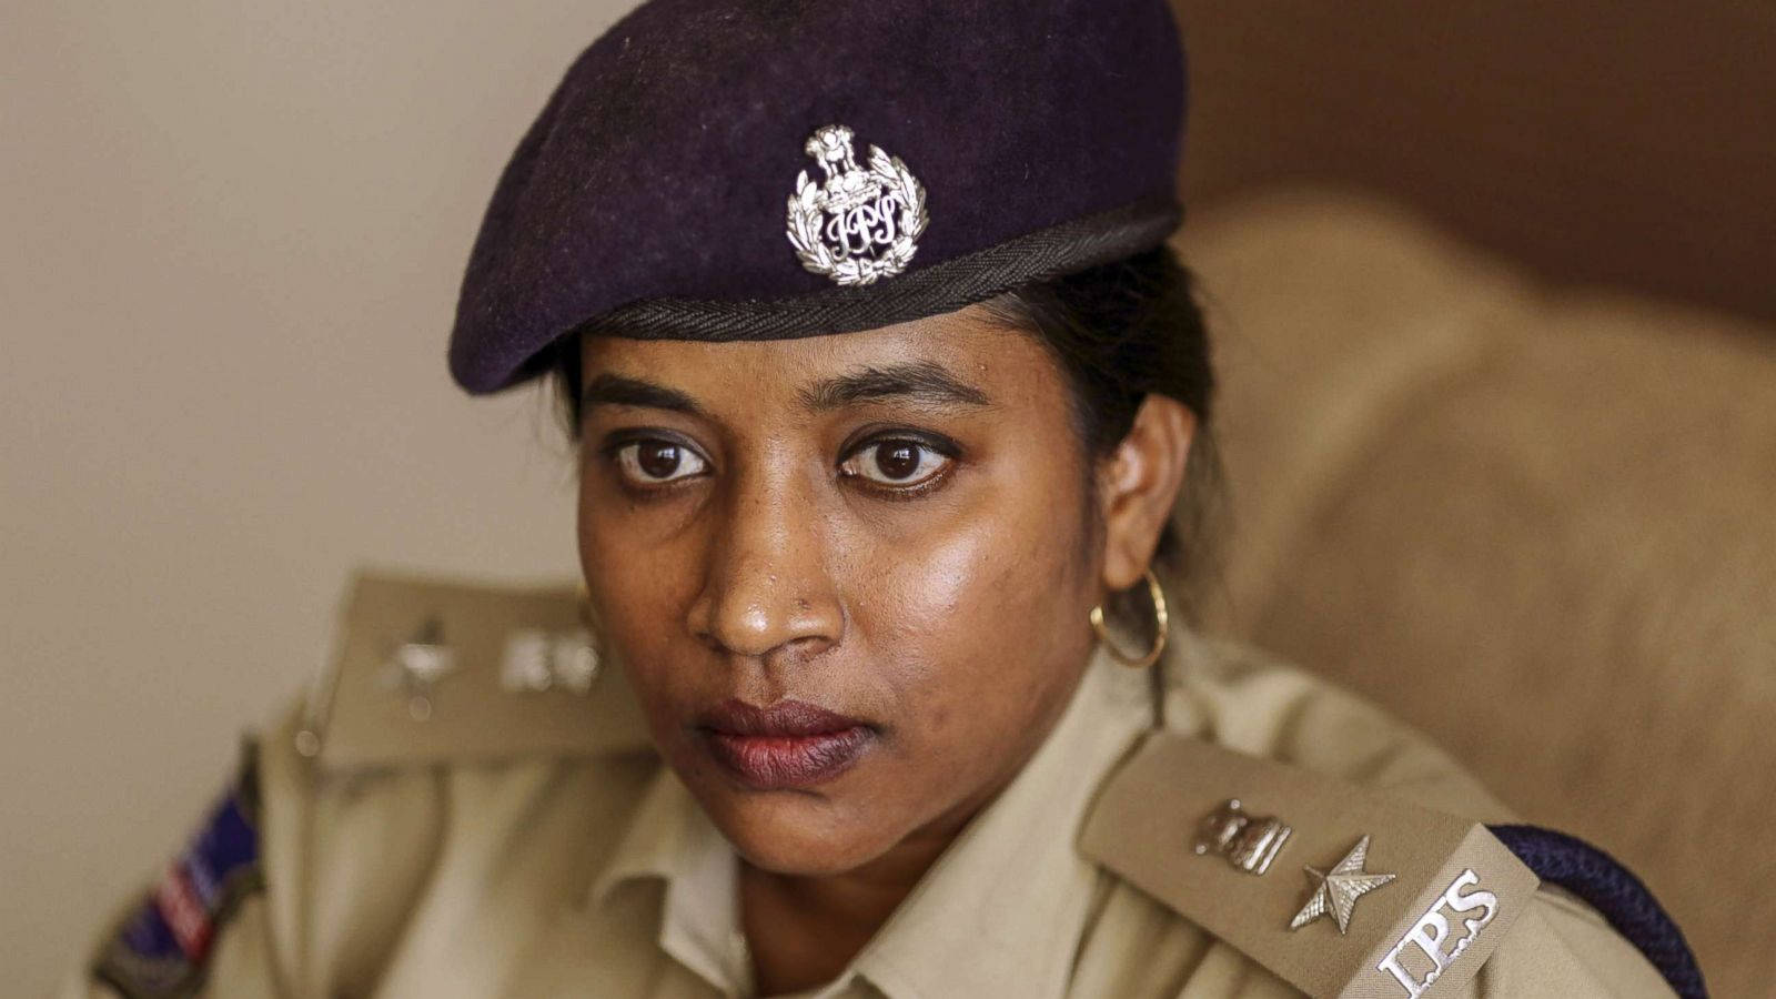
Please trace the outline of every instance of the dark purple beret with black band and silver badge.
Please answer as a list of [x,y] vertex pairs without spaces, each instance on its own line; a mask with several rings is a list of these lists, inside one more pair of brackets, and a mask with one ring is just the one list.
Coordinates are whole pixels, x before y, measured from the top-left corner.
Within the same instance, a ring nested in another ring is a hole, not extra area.
[[1183,121],[1165,0],[652,0],[501,174],[451,373],[872,329],[1151,249]]

